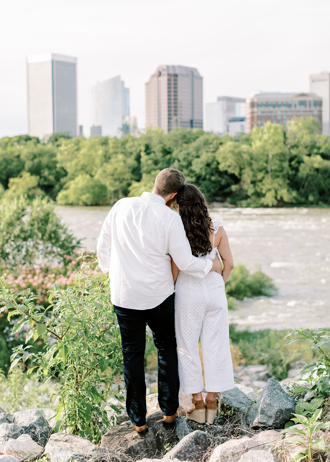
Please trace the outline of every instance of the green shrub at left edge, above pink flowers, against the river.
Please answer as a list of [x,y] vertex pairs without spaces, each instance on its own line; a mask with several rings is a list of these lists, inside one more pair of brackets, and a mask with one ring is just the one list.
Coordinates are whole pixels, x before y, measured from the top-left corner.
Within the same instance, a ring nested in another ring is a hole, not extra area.
[[55,213],[55,204],[21,196],[0,207],[0,265],[11,271],[37,263],[64,261],[77,241]]

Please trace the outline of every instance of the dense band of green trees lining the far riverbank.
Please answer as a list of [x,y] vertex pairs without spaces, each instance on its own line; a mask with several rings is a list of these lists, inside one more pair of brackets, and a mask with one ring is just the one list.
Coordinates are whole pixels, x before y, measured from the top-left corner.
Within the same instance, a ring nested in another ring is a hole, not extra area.
[[48,195],[61,204],[110,204],[151,190],[159,170],[175,167],[209,200],[242,206],[330,203],[330,140],[315,119],[283,131],[267,122],[251,135],[147,130],[122,138],[53,135],[0,140],[0,195]]

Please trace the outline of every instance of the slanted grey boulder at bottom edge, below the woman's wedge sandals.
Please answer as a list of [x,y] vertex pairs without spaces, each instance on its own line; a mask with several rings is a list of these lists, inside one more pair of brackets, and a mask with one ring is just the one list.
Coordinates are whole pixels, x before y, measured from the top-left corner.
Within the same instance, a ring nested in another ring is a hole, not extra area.
[[195,461],[202,458],[203,454],[208,450],[212,443],[212,436],[209,433],[195,430],[189,433],[182,440],[166,453],[165,458],[179,461]]

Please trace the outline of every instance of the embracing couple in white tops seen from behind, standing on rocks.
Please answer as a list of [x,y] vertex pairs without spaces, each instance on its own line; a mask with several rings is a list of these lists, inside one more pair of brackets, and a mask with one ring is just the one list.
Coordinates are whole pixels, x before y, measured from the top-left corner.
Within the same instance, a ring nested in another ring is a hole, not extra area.
[[[171,210],[175,204],[178,213]],[[167,168],[157,175],[151,193],[121,199],[111,208],[97,254],[101,270],[109,272],[132,427],[139,434],[148,431],[147,325],[158,352],[158,401],[164,425],[175,423],[179,389],[192,394],[187,418],[212,424],[216,394],[235,386],[225,295],[233,260],[222,219],[211,220],[201,190],[185,184],[179,170]]]

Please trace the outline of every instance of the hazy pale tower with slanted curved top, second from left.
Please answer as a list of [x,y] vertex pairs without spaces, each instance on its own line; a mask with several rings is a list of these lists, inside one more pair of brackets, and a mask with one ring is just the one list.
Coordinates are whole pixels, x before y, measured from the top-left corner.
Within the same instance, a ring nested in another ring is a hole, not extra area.
[[90,127],[102,127],[103,136],[121,136],[129,116],[129,89],[120,76],[97,83],[89,91]]

